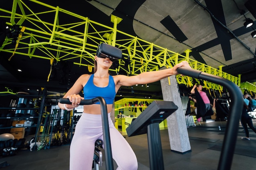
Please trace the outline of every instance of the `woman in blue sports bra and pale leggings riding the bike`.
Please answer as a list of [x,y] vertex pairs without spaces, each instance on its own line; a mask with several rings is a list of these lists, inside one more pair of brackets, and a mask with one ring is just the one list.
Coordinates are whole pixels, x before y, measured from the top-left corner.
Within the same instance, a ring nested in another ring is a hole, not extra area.
[[[94,59],[94,74],[81,75],[63,97],[69,98],[72,104],[59,103],[58,106],[61,109],[70,110],[78,107],[82,99],[102,96],[107,104],[110,144],[112,157],[118,165],[117,170],[137,170],[138,164],[135,153],[110,119],[112,103],[118,89],[121,86],[153,83],[162,78],[177,75],[177,68],[179,67],[190,68],[190,66],[187,62],[182,61],[173,68],[166,70],[143,72],[136,76],[110,76],[108,71],[113,63],[110,58],[95,55]],[[84,97],[79,95],[82,89],[84,90]],[[83,114],[76,124],[76,130],[70,145],[70,170],[92,169],[94,143],[97,139],[103,140],[101,107],[99,104],[84,105]]]

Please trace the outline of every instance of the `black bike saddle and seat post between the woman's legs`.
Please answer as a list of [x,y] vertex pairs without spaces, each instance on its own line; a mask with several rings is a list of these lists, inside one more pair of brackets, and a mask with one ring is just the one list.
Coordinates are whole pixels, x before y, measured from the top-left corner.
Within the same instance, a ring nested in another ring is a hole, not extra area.
[[92,162],[92,168],[95,168],[95,170],[99,170],[99,166],[102,166],[102,153],[101,150],[99,150],[99,147],[102,148],[102,145],[103,141],[101,139],[97,139],[95,142],[94,156]]

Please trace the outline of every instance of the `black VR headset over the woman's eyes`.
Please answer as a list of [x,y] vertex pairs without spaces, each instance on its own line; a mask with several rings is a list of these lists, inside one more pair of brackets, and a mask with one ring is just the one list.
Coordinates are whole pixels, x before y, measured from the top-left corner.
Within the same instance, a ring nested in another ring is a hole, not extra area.
[[110,46],[106,43],[99,44],[96,55],[99,58],[109,58],[112,62],[122,58],[122,51],[114,46]]

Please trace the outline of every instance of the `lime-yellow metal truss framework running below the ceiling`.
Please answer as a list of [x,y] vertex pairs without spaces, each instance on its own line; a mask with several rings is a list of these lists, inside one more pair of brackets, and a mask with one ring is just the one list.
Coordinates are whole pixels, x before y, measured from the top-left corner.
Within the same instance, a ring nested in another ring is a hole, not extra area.
[[[49,59],[49,61],[56,60],[56,62],[70,60],[76,65],[87,66],[91,71],[94,67],[97,47],[101,42],[105,42],[120,48],[124,59],[130,59],[128,66],[125,65],[124,60],[120,60],[119,68],[112,69],[115,72],[123,71],[127,75],[136,75],[141,72],[159,70],[161,67],[172,68],[181,61],[188,61],[194,69],[226,78],[240,86],[240,76],[236,77],[222,72],[221,66],[216,69],[190,59],[191,50],[186,50],[184,56],[119,31],[117,25],[122,20],[119,17],[111,15],[110,21],[113,26],[110,27],[59,7],[53,7],[37,0],[29,1],[33,2],[33,7],[26,5],[25,0],[13,0],[12,11],[0,9],[5,14],[0,17],[9,21],[7,25],[16,24],[20,28],[26,26],[15,54]],[[36,11],[33,11],[34,7],[37,7]],[[68,21],[74,22],[67,23],[66,17],[69,18]],[[45,18],[51,18],[52,22]],[[13,53],[14,48],[7,48],[11,41],[12,39],[7,38],[0,51]],[[177,83],[191,87],[193,79],[178,75]],[[204,81],[204,87],[222,89],[219,85],[207,81]]]

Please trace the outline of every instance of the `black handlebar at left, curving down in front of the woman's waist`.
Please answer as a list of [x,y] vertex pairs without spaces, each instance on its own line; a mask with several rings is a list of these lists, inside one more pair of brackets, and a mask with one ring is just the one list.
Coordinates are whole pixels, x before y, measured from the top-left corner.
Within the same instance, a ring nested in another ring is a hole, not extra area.
[[[68,98],[60,98],[60,103],[63,104],[71,104]],[[88,100],[81,100],[80,105],[92,105],[94,103],[99,102],[101,105],[101,118],[102,118],[102,131],[103,131],[103,140],[105,146],[105,157],[106,157],[106,169],[113,170],[113,159],[112,159],[112,150],[110,144],[110,133],[108,128],[108,111],[106,101],[102,97],[96,97]]]

